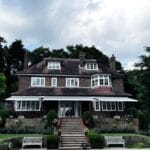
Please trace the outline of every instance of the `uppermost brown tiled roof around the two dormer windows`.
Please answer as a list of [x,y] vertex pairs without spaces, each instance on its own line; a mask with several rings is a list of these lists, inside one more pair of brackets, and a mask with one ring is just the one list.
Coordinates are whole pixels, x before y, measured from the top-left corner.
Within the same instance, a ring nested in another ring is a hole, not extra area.
[[[60,61],[61,69],[60,70],[52,70],[47,69],[47,62],[48,61]],[[96,62],[96,59],[85,59],[86,62]],[[99,70],[87,71],[81,69],[80,67],[80,59],[65,59],[65,58],[46,58],[43,59],[41,62],[18,72],[19,75],[22,74],[56,74],[56,75],[91,75],[91,74],[112,74],[112,75],[119,75],[119,72],[115,70],[111,70],[109,67],[104,66],[98,63]],[[81,71],[82,70],[82,71]]]

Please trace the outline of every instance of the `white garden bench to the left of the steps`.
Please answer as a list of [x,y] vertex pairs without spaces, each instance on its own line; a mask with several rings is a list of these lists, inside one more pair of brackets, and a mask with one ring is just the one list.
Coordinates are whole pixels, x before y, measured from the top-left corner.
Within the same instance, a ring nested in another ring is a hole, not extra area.
[[25,146],[40,146],[42,148],[42,137],[24,137],[22,139],[22,148]]

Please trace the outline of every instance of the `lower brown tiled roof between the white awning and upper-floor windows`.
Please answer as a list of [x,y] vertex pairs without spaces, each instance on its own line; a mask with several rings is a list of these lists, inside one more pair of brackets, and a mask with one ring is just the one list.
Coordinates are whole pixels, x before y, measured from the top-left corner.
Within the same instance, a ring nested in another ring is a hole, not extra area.
[[32,88],[17,91],[18,96],[131,96],[125,92],[112,91],[111,88]]

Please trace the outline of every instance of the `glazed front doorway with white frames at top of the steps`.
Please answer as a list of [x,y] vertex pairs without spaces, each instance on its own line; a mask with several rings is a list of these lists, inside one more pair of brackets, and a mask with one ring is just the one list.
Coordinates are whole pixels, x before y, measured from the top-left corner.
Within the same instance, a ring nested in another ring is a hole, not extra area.
[[58,106],[59,117],[78,117],[79,102],[60,101]]

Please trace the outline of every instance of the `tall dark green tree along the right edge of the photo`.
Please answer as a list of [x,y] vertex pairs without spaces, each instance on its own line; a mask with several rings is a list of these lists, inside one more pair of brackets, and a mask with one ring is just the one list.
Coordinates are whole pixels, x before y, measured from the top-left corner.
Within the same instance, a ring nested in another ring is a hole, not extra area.
[[150,128],[150,47],[145,49],[146,55],[140,56],[135,66],[139,69],[127,72],[128,90],[139,100],[139,119],[141,129]]

